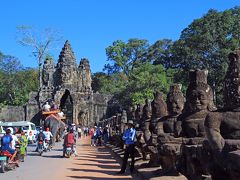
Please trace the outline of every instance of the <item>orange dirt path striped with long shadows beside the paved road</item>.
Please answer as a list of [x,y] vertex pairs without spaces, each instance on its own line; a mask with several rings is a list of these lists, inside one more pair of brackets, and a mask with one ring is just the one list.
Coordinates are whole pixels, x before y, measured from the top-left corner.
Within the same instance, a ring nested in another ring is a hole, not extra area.
[[120,164],[105,147],[90,146],[89,138],[82,138],[77,146],[79,157],[73,157],[59,179],[132,179],[127,175],[116,175]]

